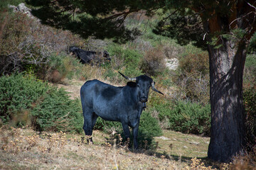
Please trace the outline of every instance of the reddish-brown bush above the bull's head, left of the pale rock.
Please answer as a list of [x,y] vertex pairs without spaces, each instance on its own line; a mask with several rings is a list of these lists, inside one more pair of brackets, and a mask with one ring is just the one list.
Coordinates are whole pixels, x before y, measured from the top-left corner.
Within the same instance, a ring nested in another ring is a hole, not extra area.
[[164,72],[165,68],[164,52],[162,52],[160,47],[151,48],[146,51],[140,66],[142,72],[149,76],[156,76],[157,74]]

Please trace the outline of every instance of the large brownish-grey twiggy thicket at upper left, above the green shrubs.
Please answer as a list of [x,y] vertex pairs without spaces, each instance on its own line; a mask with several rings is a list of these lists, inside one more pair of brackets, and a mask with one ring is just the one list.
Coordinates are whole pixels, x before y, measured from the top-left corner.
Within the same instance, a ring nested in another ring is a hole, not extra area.
[[25,13],[0,13],[0,25],[0,74],[32,71],[42,78],[41,68],[52,52],[63,52],[70,44],[82,44],[78,36],[43,26]]

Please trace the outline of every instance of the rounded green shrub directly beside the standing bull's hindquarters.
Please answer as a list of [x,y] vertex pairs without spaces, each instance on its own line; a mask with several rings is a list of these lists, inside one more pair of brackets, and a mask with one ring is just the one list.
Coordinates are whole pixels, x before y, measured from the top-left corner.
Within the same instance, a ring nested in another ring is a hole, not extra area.
[[51,88],[31,111],[33,126],[37,130],[82,132],[80,101],[71,100],[64,89]]

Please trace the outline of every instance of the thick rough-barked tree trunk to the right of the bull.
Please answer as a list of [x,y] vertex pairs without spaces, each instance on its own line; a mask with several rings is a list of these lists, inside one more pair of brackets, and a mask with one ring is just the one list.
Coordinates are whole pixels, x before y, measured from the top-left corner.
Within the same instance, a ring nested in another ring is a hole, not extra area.
[[211,127],[208,158],[229,162],[245,145],[245,113],[242,105],[242,74],[245,43],[222,40],[208,45],[210,62]]

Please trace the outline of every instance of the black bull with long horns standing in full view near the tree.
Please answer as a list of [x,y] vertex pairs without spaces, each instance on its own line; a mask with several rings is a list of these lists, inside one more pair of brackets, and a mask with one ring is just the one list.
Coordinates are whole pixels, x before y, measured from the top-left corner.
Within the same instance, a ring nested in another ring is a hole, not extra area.
[[[154,81],[146,75],[129,78],[127,86],[112,86],[97,79],[86,81],[80,89],[82,113],[84,116],[83,130],[85,135],[92,135],[92,129],[100,116],[104,120],[122,123],[124,135],[130,137],[129,127],[134,136],[134,149],[137,149],[139,118],[149,96],[149,88],[162,94],[154,88]],[[91,139],[92,140],[92,139]]]

